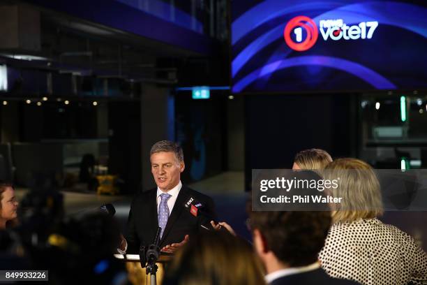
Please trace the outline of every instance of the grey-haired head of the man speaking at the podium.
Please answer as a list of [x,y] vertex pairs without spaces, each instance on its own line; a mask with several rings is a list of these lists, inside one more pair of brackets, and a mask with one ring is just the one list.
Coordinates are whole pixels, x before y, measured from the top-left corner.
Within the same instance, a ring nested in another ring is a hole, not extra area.
[[176,187],[185,168],[183,151],[176,142],[160,140],[150,151],[151,173],[160,190],[167,192]]

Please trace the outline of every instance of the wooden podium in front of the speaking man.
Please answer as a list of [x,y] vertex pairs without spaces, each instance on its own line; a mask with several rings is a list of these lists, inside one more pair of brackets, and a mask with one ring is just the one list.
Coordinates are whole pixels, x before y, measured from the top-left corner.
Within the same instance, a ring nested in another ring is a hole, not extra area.
[[[126,263],[130,283],[133,285],[150,284],[150,277],[145,274],[145,268],[141,268],[140,256],[138,254],[114,254],[114,257]],[[163,277],[165,276],[165,265],[171,258],[171,254],[160,254],[156,263],[158,266],[156,274],[157,284],[162,284]]]

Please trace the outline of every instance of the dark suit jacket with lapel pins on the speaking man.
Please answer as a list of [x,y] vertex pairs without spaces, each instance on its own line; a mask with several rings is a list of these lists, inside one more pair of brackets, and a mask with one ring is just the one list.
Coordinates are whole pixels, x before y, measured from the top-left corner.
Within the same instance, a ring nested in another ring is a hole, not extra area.
[[[128,254],[137,253],[140,245],[149,246],[156,238],[158,228],[157,218],[157,188],[140,193],[130,205],[128,219]],[[204,215],[194,217],[184,207],[190,197],[204,205]],[[209,227],[209,221],[216,219],[213,200],[209,196],[199,193],[186,186],[182,186],[175,201],[163,237],[160,240],[160,249],[167,244],[181,242],[186,235],[196,235],[199,231],[206,231],[200,225]]]

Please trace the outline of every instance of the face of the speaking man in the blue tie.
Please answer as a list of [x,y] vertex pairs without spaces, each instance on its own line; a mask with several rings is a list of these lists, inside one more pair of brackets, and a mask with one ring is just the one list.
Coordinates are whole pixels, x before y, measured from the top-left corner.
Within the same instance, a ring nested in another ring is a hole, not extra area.
[[151,173],[160,190],[167,192],[178,185],[185,165],[174,152],[156,152],[151,154]]

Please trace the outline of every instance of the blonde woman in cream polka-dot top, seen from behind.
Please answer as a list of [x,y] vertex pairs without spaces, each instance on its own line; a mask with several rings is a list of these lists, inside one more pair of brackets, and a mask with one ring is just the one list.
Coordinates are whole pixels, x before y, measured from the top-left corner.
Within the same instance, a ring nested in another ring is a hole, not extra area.
[[324,179],[340,177],[333,196],[343,197],[333,209],[331,226],[320,251],[322,268],[336,278],[361,284],[427,284],[427,255],[414,239],[383,224],[380,183],[359,159],[336,159]]

